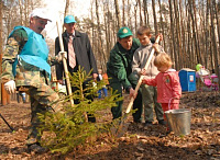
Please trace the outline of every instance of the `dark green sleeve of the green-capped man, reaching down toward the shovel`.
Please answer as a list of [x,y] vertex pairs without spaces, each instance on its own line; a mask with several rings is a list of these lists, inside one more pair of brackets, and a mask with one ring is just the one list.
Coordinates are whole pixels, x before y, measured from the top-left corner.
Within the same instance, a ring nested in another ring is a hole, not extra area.
[[122,57],[116,53],[110,53],[111,73],[122,83],[124,89],[131,88],[128,80],[127,70],[124,68]]

